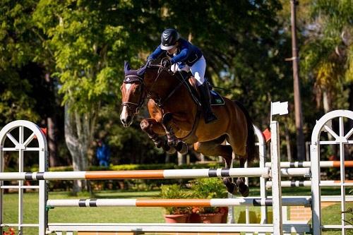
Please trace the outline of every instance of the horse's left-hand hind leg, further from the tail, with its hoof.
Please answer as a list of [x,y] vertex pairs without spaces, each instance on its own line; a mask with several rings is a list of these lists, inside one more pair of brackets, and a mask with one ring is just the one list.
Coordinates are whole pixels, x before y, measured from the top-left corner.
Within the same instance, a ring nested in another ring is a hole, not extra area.
[[[197,142],[193,144],[196,152],[201,152],[203,155],[208,156],[222,156],[225,159],[226,168],[230,167],[232,163],[232,147],[230,145],[221,145],[224,138],[217,140],[211,140],[208,142]],[[223,178],[223,183],[227,187],[229,193],[235,194],[238,191],[238,187],[233,183],[232,178]]]

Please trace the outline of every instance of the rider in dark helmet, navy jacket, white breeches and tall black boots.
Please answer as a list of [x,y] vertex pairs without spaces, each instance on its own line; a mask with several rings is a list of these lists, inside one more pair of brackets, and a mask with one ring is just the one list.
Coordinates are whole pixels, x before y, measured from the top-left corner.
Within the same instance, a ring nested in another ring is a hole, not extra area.
[[201,94],[205,123],[216,121],[217,117],[213,114],[210,104],[210,90],[208,90],[208,84],[204,78],[206,61],[201,50],[181,38],[177,30],[172,28],[164,30],[160,40],[161,44],[155,49],[155,52],[148,56],[148,62],[157,59],[163,51],[167,51],[170,59],[162,61],[164,68],[174,65],[174,68],[179,71],[191,71]]

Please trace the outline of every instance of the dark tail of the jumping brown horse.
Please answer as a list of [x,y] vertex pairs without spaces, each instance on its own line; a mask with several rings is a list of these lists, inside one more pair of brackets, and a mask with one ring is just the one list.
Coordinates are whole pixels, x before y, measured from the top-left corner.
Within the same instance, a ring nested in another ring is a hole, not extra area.
[[248,127],[248,138],[246,139],[246,155],[248,164],[251,164],[251,162],[253,162],[253,159],[258,156],[258,151],[256,151],[255,145],[255,131],[253,130],[253,120],[251,119],[248,110],[246,110],[246,108],[243,104],[241,104],[241,102],[237,100],[235,100],[234,102],[235,104],[237,104],[237,106],[241,109],[241,111],[246,117],[246,125]]

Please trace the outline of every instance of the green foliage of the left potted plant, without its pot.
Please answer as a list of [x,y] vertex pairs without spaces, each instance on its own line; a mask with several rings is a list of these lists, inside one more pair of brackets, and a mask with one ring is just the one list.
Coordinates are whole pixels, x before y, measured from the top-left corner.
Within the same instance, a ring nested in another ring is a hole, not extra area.
[[[188,198],[188,193],[181,189],[177,184],[161,186],[160,198],[164,199],[183,199]],[[167,215],[188,214],[191,212],[191,207],[164,207]]]

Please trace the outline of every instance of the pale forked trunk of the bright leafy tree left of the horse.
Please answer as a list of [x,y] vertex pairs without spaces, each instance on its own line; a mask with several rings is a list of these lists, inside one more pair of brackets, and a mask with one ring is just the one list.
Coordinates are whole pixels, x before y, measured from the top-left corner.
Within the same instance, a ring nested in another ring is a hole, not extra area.
[[[88,168],[87,152],[92,143],[95,128],[95,112],[80,115],[69,111],[69,102],[65,105],[65,140],[73,162],[73,171],[86,171]],[[88,189],[85,181],[74,181],[73,193]]]

